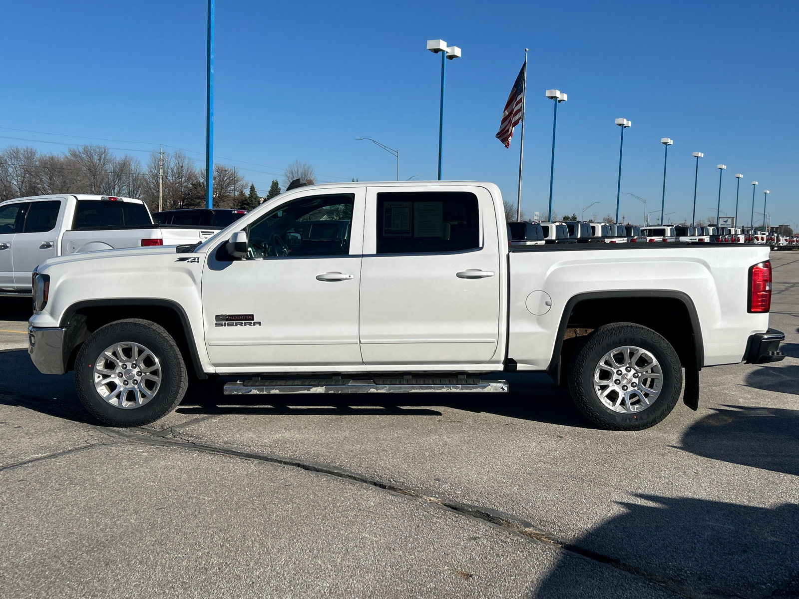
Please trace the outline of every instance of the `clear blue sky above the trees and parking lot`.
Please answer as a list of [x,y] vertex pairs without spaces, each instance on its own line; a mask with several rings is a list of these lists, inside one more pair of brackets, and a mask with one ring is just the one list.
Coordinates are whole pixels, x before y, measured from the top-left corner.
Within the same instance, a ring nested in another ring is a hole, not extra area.
[[[12,130],[28,129],[122,140],[106,142],[118,153],[162,143],[201,162],[205,11],[202,0],[6,3],[0,146],[90,141]],[[579,215],[594,201],[586,216],[615,211],[614,119],[625,117],[622,192],[645,197],[647,210],[660,206],[659,142],[671,137],[667,219],[690,218],[691,153],[701,151],[698,217],[715,215],[724,163],[722,212],[734,212],[733,175],[743,173],[739,222],[749,222],[751,180],[756,211],[769,189],[771,223],[789,222],[799,219],[797,16],[796,2],[217,0],[215,153],[261,190],[295,159],[320,180],[393,180],[394,158],[355,140],[373,137],[400,149],[401,179],[435,179],[440,60],[425,41],[442,38],[463,49],[447,62],[443,177],[491,180],[515,201],[519,129],[510,150],[494,136],[529,47],[528,212],[546,210],[544,91],[555,88],[569,96],[558,111],[556,212]],[[640,221],[643,204],[622,195],[621,212]]]

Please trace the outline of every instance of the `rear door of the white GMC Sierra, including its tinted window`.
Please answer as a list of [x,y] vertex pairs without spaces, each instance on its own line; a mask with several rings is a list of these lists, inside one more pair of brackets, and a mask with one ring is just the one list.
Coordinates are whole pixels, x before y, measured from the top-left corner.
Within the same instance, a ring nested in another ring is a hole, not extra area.
[[497,222],[485,188],[368,188],[364,363],[491,360],[499,342],[499,285]]

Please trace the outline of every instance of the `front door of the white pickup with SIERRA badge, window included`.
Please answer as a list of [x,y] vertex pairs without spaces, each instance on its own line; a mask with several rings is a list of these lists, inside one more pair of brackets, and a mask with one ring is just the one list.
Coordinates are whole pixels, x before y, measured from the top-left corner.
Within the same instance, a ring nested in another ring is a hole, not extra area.
[[363,363],[358,292],[364,196],[364,188],[309,188],[242,219],[246,259],[230,260],[225,243],[209,251],[203,317],[218,372]]

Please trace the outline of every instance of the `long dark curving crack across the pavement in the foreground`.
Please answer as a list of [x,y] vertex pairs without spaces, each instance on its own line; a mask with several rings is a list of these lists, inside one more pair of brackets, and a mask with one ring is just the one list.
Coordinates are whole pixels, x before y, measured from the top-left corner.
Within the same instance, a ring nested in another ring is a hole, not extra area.
[[[632,574],[636,577],[639,577],[643,581],[646,581],[651,585],[658,586],[670,593],[677,594],[681,597],[687,597],[687,599],[719,599],[719,597],[722,597],[715,593],[713,594],[700,593],[694,589],[690,589],[690,587],[672,581],[669,578],[658,576],[655,573],[651,573],[646,571],[645,569],[638,568],[638,566],[627,564],[624,561],[618,560],[614,557],[610,557],[609,555],[595,552],[591,549],[587,549],[586,547],[582,547],[575,543],[570,543],[569,541],[564,541],[562,539],[555,537],[555,535],[553,534],[549,534],[544,532],[543,530],[537,529],[530,522],[526,522],[521,518],[514,518],[510,514],[502,514],[501,512],[497,510],[491,510],[490,508],[481,507],[481,506],[471,506],[465,503],[454,502],[447,499],[430,497],[428,495],[420,493],[419,491],[408,489],[407,487],[392,485],[388,482],[380,482],[373,478],[367,478],[361,474],[356,474],[348,470],[336,468],[335,466],[323,466],[319,464],[313,464],[311,462],[302,462],[300,460],[291,459],[291,458],[279,458],[276,456],[253,454],[246,451],[226,449],[225,447],[205,445],[203,443],[193,442],[190,439],[179,437],[177,435],[173,435],[175,439],[168,439],[165,438],[165,435],[163,434],[165,433],[165,431],[161,431],[162,434],[158,434],[156,436],[156,434],[153,434],[152,431],[144,428],[137,428],[133,430],[138,430],[144,434],[133,434],[128,432],[123,432],[122,430],[119,429],[110,429],[107,430],[107,432],[109,436],[123,438],[125,440],[142,443],[144,445],[179,447],[183,449],[196,450],[203,453],[217,454],[232,458],[249,459],[258,462],[277,464],[280,466],[292,466],[294,468],[299,468],[300,470],[306,470],[308,472],[315,472],[317,474],[327,474],[328,476],[333,476],[336,478],[341,478],[352,482],[360,482],[361,484],[373,486],[381,490],[387,490],[394,494],[400,494],[406,497],[418,499],[419,501],[431,503],[434,506],[439,506],[445,510],[449,510],[451,512],[455,512],[456,514],[466,516],[467,518],[475,518],[477,520],[486,522],[489,525],[497,526],[502,530],[505,530],[512,534],[518,534],[524,538],[527,538],[528,540],[537,541],[542,545],[547,545],[555,549],[561,549],[562,551],[565,551],[566,553],[572,553],[577,557],[593,561],[595,563],[604,565],[612,569],[621,570],[622,572],[626,572],[628,574]],[[171,427],[167,430],[171,430]],[[740,597],[740,596],[729,595],[727,597]]]

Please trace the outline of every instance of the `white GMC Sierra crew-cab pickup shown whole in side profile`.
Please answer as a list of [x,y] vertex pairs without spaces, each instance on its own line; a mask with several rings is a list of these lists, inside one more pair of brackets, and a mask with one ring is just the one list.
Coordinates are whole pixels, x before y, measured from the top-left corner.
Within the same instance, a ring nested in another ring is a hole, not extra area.
[[[507,391],[547,372],[598,426],[698,405],[702,367],[782,359],[769,249],[511,248],[495,184],[321,184],[204,242],[46,260],[30,355],[74,370],[113,426],[172,411],[189,379],[225,393]],[[685,375],[683,375],[683,371]]]

